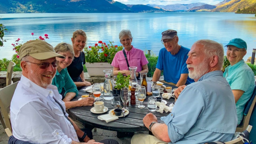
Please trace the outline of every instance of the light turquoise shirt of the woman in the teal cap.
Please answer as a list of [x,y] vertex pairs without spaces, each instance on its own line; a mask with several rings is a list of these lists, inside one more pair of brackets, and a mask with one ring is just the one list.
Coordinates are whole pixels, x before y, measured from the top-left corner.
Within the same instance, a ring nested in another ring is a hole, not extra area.
[[244,106],[252,96],[252,92],[255,85],[253,71],[244,62],[244,60],[240,60],[233,66],[229,65],[227,68],[225,68],[223,76],[227,79],[227,82],[230,85],[231,90],[244,91],[243,95],[235,104],[238,117],[237,124],[240,124],[243,119]]

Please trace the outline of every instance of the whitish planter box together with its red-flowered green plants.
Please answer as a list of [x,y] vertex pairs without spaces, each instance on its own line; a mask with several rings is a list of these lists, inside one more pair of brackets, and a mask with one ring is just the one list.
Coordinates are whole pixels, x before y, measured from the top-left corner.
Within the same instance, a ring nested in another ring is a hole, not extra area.
[[123,46],[113,45],[99,41],[92,46],[85,47],[85,61],[89,76],[104,76],[103,70],[113,68],[111,62],[117,52],[123,49]]

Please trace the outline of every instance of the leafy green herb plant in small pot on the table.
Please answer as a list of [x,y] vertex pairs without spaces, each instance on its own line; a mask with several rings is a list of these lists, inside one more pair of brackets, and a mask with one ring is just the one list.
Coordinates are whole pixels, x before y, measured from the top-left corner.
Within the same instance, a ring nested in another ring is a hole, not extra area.
[[113,94],[119,94],[121,92],[121,88],[129,87],[130,75],[124,76],[122,73],[117,74],[116,78],[116,86],[113,88]]

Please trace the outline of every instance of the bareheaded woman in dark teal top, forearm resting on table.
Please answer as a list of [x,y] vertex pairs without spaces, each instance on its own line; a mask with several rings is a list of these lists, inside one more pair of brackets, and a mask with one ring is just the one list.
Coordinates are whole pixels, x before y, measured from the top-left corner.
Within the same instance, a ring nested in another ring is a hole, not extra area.
[[62,88],[64,88],[65,94],[62,97],[62,100],[65,102],[66,109],[81,106],[92,106],[94,98],[70,101],[78,94],[77,87],[67,71],[67,67],[71,64],[75,55],[72,45],[67,43],[60,43],[55,46],[54,50],[55,52],[66,57],[66,59],[60,59],[56,57],[56,60],[59,61],[59,64],[57,67],[56,75],[52,82],[53,85],[57,86],[59,93],[61,93]]

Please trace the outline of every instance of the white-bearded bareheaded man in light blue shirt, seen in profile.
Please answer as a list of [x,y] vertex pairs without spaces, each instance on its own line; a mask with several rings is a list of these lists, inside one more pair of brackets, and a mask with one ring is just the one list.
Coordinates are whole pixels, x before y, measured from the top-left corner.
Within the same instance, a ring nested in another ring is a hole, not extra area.
[[224,50],[221,44],[211,40],[195,42],[186,61],[189,77],[195,83],[181,86],[172,112],[161,117],[164,124],[149,113],[143,122],[153,133],[136,134],[131,143],[177,143],[200,144],[209,141],[232,139],[237,115],[235,99],[227,80],[220,69]]

